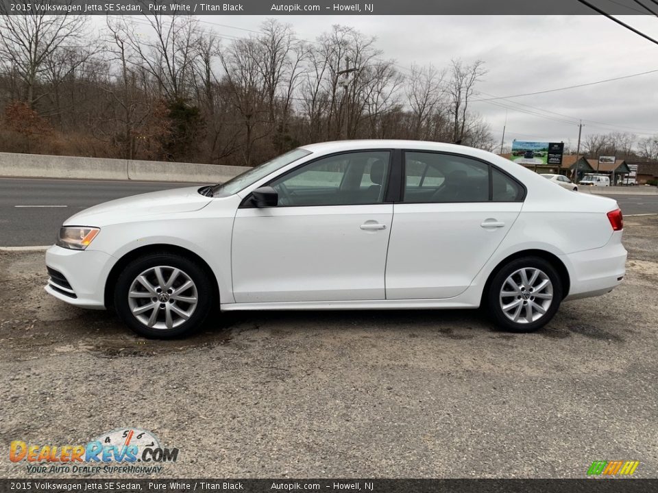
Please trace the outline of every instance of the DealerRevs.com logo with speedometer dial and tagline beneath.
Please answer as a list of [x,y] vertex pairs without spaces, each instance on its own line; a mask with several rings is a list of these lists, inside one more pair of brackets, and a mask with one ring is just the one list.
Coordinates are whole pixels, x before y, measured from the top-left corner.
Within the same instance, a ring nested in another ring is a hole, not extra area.
[[178,460],[178,448],[164,448],[150,431],[128,427],[101,433],[86,444],[30,444],[14,440],[9,459],[25,462],[30,474],[157,474],[162,472],[163,463]]

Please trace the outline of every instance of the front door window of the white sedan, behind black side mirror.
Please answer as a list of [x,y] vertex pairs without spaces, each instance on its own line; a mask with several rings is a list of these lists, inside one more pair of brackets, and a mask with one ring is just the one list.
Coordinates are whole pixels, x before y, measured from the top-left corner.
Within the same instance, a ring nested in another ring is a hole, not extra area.
[[389,175],[390,151],[330,155],[304,164],[269,186],[282,207],[382,203]]

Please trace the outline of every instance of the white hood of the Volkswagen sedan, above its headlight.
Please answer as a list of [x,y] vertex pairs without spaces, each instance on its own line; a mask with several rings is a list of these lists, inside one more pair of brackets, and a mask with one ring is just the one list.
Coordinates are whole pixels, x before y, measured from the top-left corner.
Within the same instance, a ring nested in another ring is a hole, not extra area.
[[160,190],[89,207],[64,221],[64,226],[103,226],[123,223],[128,218],[192,212],[203,209],[212,200],[199,194],[199,186]]

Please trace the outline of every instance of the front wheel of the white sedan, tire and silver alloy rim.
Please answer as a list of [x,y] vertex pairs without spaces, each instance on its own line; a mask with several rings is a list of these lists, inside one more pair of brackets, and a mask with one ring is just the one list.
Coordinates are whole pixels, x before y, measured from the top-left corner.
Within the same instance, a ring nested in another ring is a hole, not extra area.
[[206,270],[175,253],[150,253],[124,269],[114,289],[123,323],[149,339],[189,336],[210,313],[215,289]]

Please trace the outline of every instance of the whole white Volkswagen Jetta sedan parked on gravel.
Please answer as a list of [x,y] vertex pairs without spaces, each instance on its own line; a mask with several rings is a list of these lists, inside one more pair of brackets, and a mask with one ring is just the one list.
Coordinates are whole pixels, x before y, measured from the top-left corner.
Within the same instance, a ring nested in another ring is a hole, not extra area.
[[615,201],[452,144],[311,144],[223,185],[111,201],[69,218],[47,292],[113,307],[142,336],[222,311],[476,308],[543,327],[624,277]]

